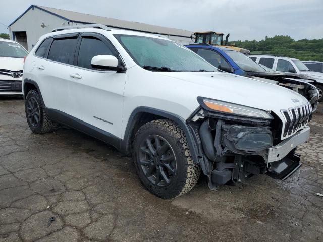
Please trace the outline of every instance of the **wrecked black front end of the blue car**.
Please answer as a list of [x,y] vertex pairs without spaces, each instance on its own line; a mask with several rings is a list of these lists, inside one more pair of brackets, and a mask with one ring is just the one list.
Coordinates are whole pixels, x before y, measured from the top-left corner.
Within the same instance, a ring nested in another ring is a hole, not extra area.
[[264,73],[264,72],[249,72],[248,76],[265,82],[277,84],[279,86],[293,90],[304,96],[312,106],[313,112],[318,104],[318,91],[316,87],[308,82],[316,82],[315,79],[303,74],[294,73]]

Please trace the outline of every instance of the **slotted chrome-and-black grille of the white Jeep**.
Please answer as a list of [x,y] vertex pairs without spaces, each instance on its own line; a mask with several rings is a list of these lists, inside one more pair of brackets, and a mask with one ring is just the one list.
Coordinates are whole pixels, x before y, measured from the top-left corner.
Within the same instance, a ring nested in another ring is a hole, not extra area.
[[310,104],[306,104],[290,107],[288,110],[282,109],[281,113],[285,120],[282,129],[282,138],[287,138],[307,125],[312,113],[312,106]]

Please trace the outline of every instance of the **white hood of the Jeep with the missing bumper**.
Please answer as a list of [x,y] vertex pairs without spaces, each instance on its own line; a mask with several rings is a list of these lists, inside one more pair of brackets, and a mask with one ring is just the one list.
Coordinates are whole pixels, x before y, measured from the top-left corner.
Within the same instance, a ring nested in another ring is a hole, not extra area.
[[[274,111],[307,105],[302,95],[275,84],[222,72],[158,72],[185,81],[187,95],[201,96],[221,101]],[[191,83],[192,85],[189,85]],[[283,118],[283,117],[282,117]]]

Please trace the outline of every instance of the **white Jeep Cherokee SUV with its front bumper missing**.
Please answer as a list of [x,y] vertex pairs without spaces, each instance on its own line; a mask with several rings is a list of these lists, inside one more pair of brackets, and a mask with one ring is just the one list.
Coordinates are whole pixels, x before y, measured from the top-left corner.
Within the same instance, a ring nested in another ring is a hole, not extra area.
[[274,84],[219,71],[169,39],[106,26],[42,36],[24,65],[30,129],[57,123],[133,155],[144,186],[185,194],[200,171],[209,188],[300,166],[312,106]]

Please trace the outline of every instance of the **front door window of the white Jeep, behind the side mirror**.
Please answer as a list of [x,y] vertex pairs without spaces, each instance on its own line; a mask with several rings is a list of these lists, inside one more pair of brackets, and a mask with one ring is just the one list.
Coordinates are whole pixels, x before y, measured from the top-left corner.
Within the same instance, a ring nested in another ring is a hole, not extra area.
[[93,37],[83,37],[80,45],[77,65],[79,67],[92,69],[92,58],[96,55],[102,54],[115,55],[114,51],[106,46],[106,44],[101,40]]

